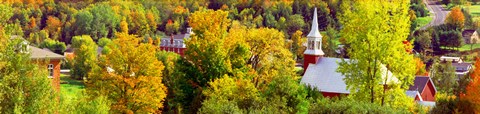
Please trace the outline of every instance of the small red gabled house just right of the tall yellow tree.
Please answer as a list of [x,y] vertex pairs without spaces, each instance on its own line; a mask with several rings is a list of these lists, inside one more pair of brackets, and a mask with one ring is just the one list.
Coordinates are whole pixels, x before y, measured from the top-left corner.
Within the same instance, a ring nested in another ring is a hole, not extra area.
[[[407,91],[407,95],[412,97],[411,93],[418,93],[415,95],[416,101],[435,101],[435,94],[437,93],[437,88],[433,84],[433,81],[428,76],[416,76],[413,81],[413,85]],[[420,95],[420,96],[418,96]]]

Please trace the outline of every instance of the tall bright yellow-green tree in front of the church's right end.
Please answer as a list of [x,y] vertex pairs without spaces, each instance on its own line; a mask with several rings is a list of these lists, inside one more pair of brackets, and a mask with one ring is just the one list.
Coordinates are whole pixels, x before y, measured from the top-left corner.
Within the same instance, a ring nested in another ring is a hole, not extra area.
[[350,96],[355,100],[395,108],[412,107],[405,90],[413,84],[415,64],[402,43],[409,35],[408,5],[405,0],[342,4],[341,35],[350,46],[350,60],[340,62],[337,71],[345,75]]

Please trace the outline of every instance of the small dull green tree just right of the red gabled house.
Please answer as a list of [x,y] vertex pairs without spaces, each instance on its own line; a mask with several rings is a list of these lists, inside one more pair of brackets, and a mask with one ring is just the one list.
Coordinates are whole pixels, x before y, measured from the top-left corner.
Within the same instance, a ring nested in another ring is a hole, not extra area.
[[437,84],[436,88],[439,93],[454,95],[454,88],[458,86],[457,79],[455,67],[452,66],[451,62],[434,64],[432,81]]

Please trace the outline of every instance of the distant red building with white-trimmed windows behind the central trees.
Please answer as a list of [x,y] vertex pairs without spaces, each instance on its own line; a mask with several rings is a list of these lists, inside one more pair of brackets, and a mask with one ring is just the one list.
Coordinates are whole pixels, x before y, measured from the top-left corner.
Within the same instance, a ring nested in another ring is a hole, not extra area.
[[160,41],[160,50],[174,52],[183,56],[187,49],[185,40],[189,39],[192,34],[192,28],[187,28],[187,33],[185,34],[171,35],[169,38],[162,38]]

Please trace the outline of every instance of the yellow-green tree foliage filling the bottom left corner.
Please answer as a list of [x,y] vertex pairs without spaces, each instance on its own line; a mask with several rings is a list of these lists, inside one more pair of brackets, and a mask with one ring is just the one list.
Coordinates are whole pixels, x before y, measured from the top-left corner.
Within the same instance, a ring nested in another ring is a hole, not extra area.
[[[3,30],[0,30],[3,32]],[[32,61],[22,40],[8,40],[0,36],[5,47],[0,51],[0,112],[3,113],[53,113],[58,97],[47,78],[47,70]],[[45,65],[46,66],[46,65]]]

